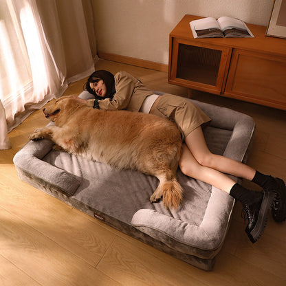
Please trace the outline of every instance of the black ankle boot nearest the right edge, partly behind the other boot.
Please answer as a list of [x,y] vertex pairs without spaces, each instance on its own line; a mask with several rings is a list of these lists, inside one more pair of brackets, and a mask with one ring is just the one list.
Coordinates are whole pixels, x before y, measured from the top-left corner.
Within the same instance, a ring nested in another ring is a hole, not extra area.
[[265,192],[274,192],[276,197],[272,206],[272,217],[274,221],[286,220],[286,187],[282,179],[271,177]]

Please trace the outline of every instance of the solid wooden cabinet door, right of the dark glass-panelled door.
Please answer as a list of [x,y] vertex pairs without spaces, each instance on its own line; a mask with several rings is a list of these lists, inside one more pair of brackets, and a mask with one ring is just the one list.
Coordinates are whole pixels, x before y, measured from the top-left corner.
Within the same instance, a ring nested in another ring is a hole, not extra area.
[[286,109],[285,80],[285,56],[234,49],[225,96]]

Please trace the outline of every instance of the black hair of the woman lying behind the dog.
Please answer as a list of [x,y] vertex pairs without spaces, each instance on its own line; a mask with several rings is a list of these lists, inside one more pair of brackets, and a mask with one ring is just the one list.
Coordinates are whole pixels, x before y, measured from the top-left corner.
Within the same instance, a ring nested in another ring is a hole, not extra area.
[[102,100],[104,98],[97,96],[96,92],[93,91],[90,87],[90,83],[98,83],[100,80],[103,80],[105,86],[107,87],[107,94],[104,98],[113,98],[115,94],[115,83],[114,83],[114,76],[111,72],[107,72],[104,69],[100,69],[89,76],[87,79],[87,83],[83,86],[83,89],[89,91],[89,94],[93,94],[94,97],[98,100]]

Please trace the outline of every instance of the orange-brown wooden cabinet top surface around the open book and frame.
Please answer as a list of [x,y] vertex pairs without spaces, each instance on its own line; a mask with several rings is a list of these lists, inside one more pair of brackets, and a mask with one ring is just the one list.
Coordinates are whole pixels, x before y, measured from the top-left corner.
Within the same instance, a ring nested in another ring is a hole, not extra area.
[[208,43],[212,45],[223,45],[228,47],[236,47],[238,49],[255,50],[258,52],[266,52],[271,54],[279,54],[286,56],[286,39],[279,39],[271,36],[265,36],[266,27],[260,25],[252,25],[246,23],[250,28],[254,38],[203,38],[194,39],[192,30],[190,30],[190,21],[201,19],[203,17],[185,15],[176,25],[171,37],[196,41],[197,43]]

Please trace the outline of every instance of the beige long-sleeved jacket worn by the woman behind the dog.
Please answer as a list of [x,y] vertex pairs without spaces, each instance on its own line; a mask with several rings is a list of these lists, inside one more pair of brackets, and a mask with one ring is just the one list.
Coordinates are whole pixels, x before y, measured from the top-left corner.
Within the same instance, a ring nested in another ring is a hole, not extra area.
[[[137,78],[126,72],[118,72],[115,74],[114,80],[116,92],[112,99],[106,98],[98,101],[100,109],[139,111],[144,99],[154,94],[153,91],[140,83]],[[92,107],[94,99],[88,100],[87,105]]]

